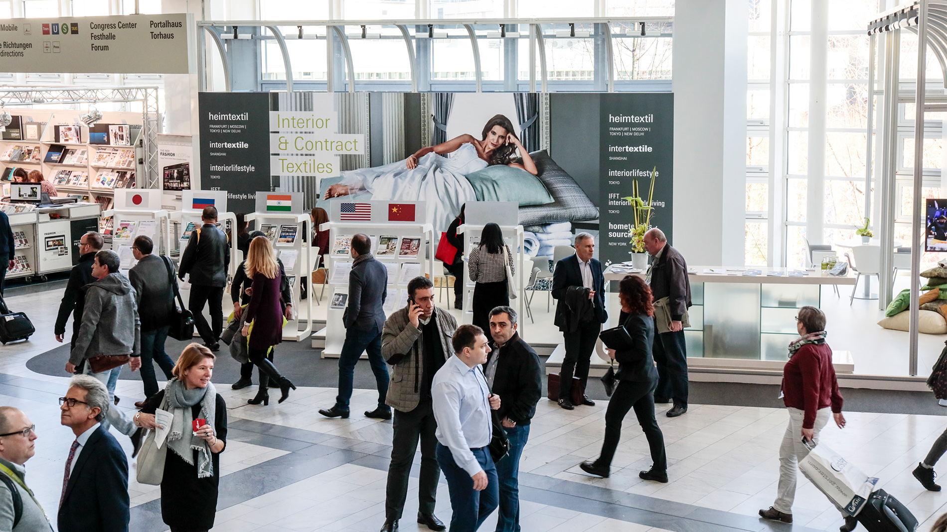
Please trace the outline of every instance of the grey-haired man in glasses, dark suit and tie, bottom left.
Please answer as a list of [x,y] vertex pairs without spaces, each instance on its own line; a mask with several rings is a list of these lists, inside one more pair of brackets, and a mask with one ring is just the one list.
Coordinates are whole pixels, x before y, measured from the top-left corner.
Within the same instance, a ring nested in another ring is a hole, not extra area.
[[128,460],[100,422],[109,391],[95,377],[76,375],[60,404],[61,422],[76,435],[63,473],[60,532],[128,532]]

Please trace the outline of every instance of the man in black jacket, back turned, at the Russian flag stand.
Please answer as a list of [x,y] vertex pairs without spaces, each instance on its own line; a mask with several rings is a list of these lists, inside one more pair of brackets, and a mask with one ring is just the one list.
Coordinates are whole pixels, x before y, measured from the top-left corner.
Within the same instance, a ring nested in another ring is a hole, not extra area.
[[[188,247],[181,255],[178,277],[184,281],[190,274],[188,310],[194,315],[194,326],[210,351],[220,351],[218,340],[223,332],[223,287],[227,283],[230,246],[227,235],[217,228],[217,209],[207,206],[201,213],[204,225],[190,233]],[[210,320],[204,318],[204,305],[210,302]]]

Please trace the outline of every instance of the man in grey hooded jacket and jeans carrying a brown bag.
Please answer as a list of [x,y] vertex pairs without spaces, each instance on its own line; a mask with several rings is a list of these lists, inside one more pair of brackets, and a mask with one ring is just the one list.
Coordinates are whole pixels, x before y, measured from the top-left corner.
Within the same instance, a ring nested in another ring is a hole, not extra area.
[[[116,383],[121,366],[96,373],[88,359],[99,355],[127,354],[132,357],[129,367],[134,371],[141,367],[141,321],[135,305],[135,291],[127,277],[118,272],[121,261],[111,249],[96,253],[92,265],[92,276],[98,279],[87,284],[85,308],[76,347],[69,353],[65,364],[68,373],[81,372],[92,375],[107,386],[110,399],[115,401]],[[80,367],[77,371],[77,367]],[[117,408],[105,413],[108,427],[111,423],[122,434],[132,436],[136,427]]]

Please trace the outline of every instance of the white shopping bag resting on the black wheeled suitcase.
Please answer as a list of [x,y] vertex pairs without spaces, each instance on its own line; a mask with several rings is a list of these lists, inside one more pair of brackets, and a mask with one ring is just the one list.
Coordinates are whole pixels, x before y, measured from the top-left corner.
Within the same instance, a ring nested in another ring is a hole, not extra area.
[[809,455],[799,460],[799,471],[836,506],[850,516],[858,514],[878,479],[868,476],[824,443],[814,447],[808,441],[803,440],[803,443],[811,450]]

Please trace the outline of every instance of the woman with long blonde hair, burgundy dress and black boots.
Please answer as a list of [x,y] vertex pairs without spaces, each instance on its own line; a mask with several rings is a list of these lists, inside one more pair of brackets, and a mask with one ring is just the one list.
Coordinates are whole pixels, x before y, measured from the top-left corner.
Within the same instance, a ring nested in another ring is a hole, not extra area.
[[[253,280],[253,293],[250,303],[246,306],[246,322],[241,335],[249,336],[247,340],[247,355],[263,374],[279,384],[281,395],[279,403],[286,401],[290,396],[290,388],[295,389],[293,383],[284,377],[266,358],[270,348],[283,341],[283,309],[279,304],[279,284],[282,276],[279,274],[276,253],[269,239],[258,236],[250,241],[250,252],[244,264],[246,276]],[[253,326],[253,335],[250,327]],[[257,397],[247,403],[264,405],[270,403],[269,390],[263,383],[259,384]]]

